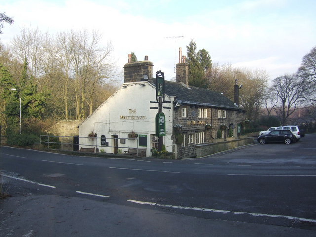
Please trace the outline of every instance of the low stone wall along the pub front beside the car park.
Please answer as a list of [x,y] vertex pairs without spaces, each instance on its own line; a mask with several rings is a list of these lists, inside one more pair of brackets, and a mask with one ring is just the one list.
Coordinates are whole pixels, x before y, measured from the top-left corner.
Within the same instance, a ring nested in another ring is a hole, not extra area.
[[254,138],[247,137],[242,139],[236,139],[232,141],[218,142],[218,143],[208,143],[196,145],[197,157],[204,157],[207,155],[212,155],[217,152],[226,151],[236,147],[253,144]]

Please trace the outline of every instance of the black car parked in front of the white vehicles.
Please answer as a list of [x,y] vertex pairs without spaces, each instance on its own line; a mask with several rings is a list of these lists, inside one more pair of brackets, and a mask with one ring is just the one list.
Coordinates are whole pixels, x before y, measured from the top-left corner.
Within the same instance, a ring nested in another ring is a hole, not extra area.
[[296,141],[296,137],[291,130],[273,130],[267,134],[259,136],[257,141],[260,144],[266,144],[268,142],[284,142],[285,144],[291,144]]

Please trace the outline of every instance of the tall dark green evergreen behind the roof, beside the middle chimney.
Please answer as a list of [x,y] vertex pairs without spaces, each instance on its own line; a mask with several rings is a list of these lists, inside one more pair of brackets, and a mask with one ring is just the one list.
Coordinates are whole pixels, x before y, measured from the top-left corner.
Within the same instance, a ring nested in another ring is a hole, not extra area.
[[205,72],[212,66],[211,57],[205,49],[197,51],[196,43],[191,40],[187,46],[187,63],[189,67],[189,85],[207,88]]

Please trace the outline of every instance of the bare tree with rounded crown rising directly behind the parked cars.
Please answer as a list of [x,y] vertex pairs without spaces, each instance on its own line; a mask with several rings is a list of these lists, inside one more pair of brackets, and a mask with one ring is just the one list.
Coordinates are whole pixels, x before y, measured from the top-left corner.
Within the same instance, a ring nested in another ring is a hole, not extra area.
[[302,104],[306,93],[306,81],[297,75],[284,75],[273,80],[271,90],[276,97],[274,110],[282,125]]

